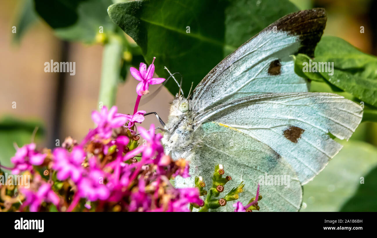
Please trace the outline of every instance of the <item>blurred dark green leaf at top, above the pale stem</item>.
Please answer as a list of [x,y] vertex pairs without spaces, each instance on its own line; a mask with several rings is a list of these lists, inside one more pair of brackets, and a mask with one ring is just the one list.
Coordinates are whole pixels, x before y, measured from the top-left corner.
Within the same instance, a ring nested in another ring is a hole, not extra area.
[[100,26],[111,34],[116,26],[107,15],[111,0],[34,0],[35,10],[54,29],[57,37],[92,43]]

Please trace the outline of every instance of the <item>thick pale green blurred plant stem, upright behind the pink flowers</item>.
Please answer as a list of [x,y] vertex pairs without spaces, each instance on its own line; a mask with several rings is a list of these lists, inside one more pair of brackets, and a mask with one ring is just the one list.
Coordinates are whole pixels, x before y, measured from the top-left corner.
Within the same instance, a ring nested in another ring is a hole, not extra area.
[[112,107],[115,104],[116,90],[120,78],[122,40],[117,35],[110,35],[105,44],[102,58],[102,72],[99,105]]

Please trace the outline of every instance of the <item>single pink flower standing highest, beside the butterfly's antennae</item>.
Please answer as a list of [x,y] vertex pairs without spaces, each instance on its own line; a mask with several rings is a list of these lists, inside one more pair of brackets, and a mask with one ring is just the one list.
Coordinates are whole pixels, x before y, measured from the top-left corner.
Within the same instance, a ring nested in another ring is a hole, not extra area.
[[[153,62],[155,61],[155,58],[153,58]],[[164,78],[152,78],[153,73],[155,72],[155,65],[150,64],[147,70],[147,65],[144,63],[140,63],[139,70],[137,70],[134,67],[130,68],[131,75],[139,82],[139,84],[136,86],[136,92],[139,96],[146,95],[149,93],[149,84],[161,84],[165,81]]]

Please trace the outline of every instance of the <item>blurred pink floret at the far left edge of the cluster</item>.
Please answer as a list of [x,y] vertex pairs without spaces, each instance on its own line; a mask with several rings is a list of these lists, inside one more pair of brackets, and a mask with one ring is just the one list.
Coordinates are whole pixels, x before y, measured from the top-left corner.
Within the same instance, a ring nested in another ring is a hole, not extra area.
[[11,162],[14,163],[12,173],[19,174],[21,171],[32,170],[32,165],[41,165],[46,156],[35,151],[35,143],[24,145],[18,148],[11,158]]

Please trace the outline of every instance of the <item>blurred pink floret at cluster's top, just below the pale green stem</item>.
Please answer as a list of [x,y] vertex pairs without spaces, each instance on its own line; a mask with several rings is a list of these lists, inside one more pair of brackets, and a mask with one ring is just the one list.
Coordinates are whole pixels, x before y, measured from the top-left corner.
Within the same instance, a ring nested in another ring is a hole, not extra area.
[[107,111],[107,107],[104,106],[101,109],[101,113],[99,113],[98,111],[92,112],[93,122],[98,125],[98,127],[96,128],[97,133],[102,138],[110,138],[113,128],[118,128],[126,124],[126,117],[115,116],[117,110],[118,108],[116,106],[113,106],[109,111]]

